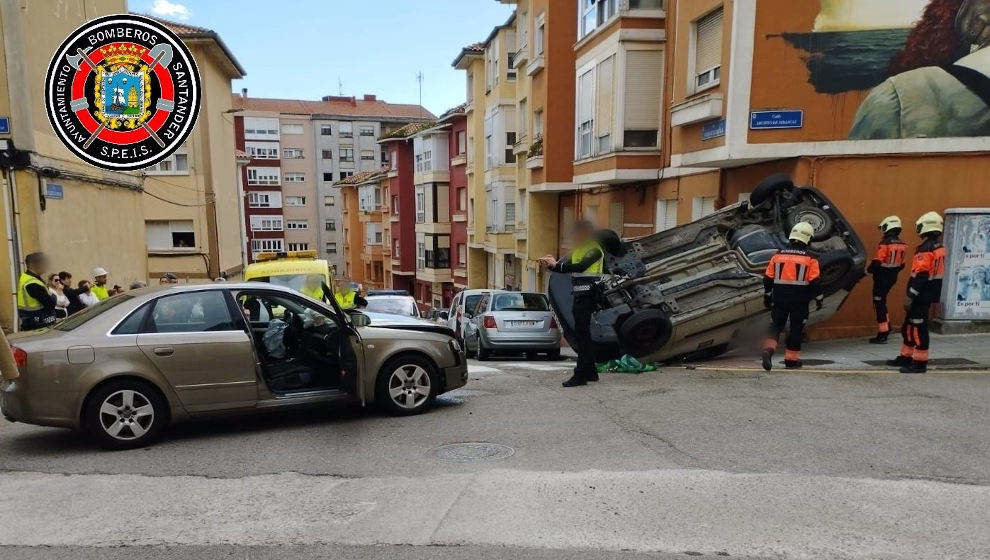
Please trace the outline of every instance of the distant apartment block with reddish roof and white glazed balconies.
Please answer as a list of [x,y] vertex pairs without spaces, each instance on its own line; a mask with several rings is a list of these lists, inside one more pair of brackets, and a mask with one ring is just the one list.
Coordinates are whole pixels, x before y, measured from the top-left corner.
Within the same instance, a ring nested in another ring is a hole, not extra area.
[[261,251],[317,250],[337,270],[345,261],[343,204],[332,185],[387,163],[378,139],[395,128],[431,120],[418,105],[327,96],[320,101],[234,95],[243,170],[245,243]]

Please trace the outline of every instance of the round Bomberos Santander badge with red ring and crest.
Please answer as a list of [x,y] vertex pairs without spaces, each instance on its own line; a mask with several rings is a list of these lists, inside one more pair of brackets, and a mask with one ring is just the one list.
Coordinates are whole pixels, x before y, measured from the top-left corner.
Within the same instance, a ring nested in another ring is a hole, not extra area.
[[172,154],[196,124],[196,61],[155,20],[117,14],[87,22],[48,66],[45,105],[52,127],[76,155],[126,171]]

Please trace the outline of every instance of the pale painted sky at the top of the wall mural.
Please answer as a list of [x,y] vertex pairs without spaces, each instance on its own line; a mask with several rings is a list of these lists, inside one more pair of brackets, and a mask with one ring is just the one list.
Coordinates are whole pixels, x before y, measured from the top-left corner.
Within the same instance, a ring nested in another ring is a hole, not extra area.
[[928,0],[822,0],[815,31],[912,27]]

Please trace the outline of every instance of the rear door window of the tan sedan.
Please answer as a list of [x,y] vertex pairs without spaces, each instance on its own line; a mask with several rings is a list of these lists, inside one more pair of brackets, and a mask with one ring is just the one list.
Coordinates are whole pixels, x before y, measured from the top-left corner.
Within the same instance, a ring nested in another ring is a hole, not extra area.
[[240,329],[240,325],[231,319],[223,292],[205,290],[159,298],[141,332],[217,332]]

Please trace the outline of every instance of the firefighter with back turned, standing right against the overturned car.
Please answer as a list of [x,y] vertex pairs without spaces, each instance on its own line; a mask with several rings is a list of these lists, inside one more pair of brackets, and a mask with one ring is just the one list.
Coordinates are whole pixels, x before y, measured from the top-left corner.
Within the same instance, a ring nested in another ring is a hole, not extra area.
[[763,344],[763,369],[770,371],[780,333],[787,331],[784,367],[796,369],[801,363],[801,338],[808,321],[808,305],[815,300],[822,308],[824,295],[819,282],[818,259],[808,251],[815,229],[807,222],[791,228],[787,247],[777,252],[763,277],[763,304],[770,309],[770,333]]

